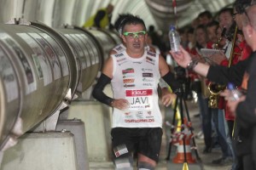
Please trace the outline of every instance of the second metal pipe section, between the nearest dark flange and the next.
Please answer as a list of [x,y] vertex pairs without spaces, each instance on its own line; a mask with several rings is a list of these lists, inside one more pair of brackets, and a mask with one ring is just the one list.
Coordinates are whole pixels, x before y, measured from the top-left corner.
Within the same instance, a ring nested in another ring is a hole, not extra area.
[[91,38],[92,36],[87,34],[86,31],[73,29],[72,27],[68,28],[67,26],[57,31],[67,38],[70,47],[77,52],[75,55],[79,59],[79,65],[77,65],[80,72],[79,77],[84,77],[79,78],[79,91],[84,92],[93,83],[102,64],[100,48],[96,46]]

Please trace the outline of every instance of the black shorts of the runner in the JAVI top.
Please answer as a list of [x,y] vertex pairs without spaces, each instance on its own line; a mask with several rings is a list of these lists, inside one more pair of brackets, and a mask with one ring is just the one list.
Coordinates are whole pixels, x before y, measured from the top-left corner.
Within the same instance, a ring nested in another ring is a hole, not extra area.
[[121,154],[127,151],[130,154],[137,152],[158,161],[162,134],[163,131],[160,127],[115,127],[111,130],[113,156],[115,158],[119,157],[117,151],[122,150]]

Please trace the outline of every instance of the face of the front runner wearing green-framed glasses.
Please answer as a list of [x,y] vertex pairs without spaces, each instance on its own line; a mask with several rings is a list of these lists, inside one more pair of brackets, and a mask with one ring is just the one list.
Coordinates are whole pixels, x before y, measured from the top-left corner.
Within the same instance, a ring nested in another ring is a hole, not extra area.
[[[141,24],[137,25],[126,25],[123,32],[141,32],[144,31],[144,27]],[[125,42],[127,50],[132,53],[142,53],[146,44],[147,34],[142,35],[138,33],[137,36],[125,36],[122,35],[123,41]]]

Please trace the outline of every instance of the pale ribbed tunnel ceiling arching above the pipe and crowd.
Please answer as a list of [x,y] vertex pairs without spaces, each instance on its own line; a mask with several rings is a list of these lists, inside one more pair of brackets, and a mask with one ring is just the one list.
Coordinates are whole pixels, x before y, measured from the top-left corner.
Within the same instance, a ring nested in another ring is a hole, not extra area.
[[112,23],[119,14],[136,14],[146,26],[154,25],[165,35],[170,24],[179,28],[189,25],[199,13],[209,10],[212,14],[221,8],[231,6],[235,0],[176,0],[177,21],[175,21],[172,0],[0,0],[0,22],[11,18],[39,20],[47,26],[62,24],[83,26],[84,21],[104,8],[108,3],[114,5]]

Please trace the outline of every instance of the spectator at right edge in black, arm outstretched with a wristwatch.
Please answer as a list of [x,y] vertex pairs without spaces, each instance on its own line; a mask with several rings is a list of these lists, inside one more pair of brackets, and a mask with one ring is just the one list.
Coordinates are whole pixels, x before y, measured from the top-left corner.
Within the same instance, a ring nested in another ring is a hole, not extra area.
[[240,164],[235,169],[247,170],[256,169],[256,5],[252,5],[251,1],[236,0],[235,8],[242,17],[242,32],[245,40],[253,51],[247,59],[228,68],[192,60],[183,48],[181,53],[171,51],[171,54],[178,65],[187,67],[212,82],[221,84],[233,82],[244,89],[244,94],[236,101],[230,99],[230,91],[227,89],[221,95],[228,100],[230,111],[236,115],[232,138],[235,142],[236,154],[239,154]]

